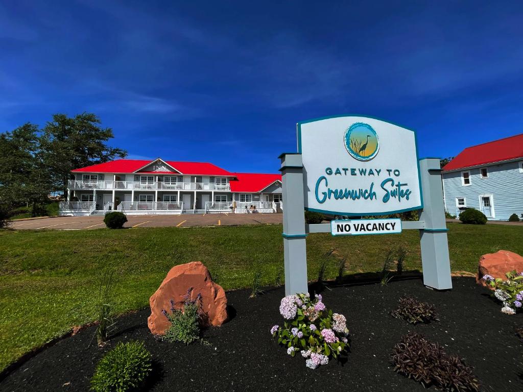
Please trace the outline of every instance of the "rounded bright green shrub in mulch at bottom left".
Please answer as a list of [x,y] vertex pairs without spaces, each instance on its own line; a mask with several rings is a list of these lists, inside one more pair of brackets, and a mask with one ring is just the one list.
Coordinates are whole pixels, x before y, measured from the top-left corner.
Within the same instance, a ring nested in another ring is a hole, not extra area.
[[143,342],[118,343],[96,365],[91,390],[126,392],[138,389],[152,370],[151,353]]

